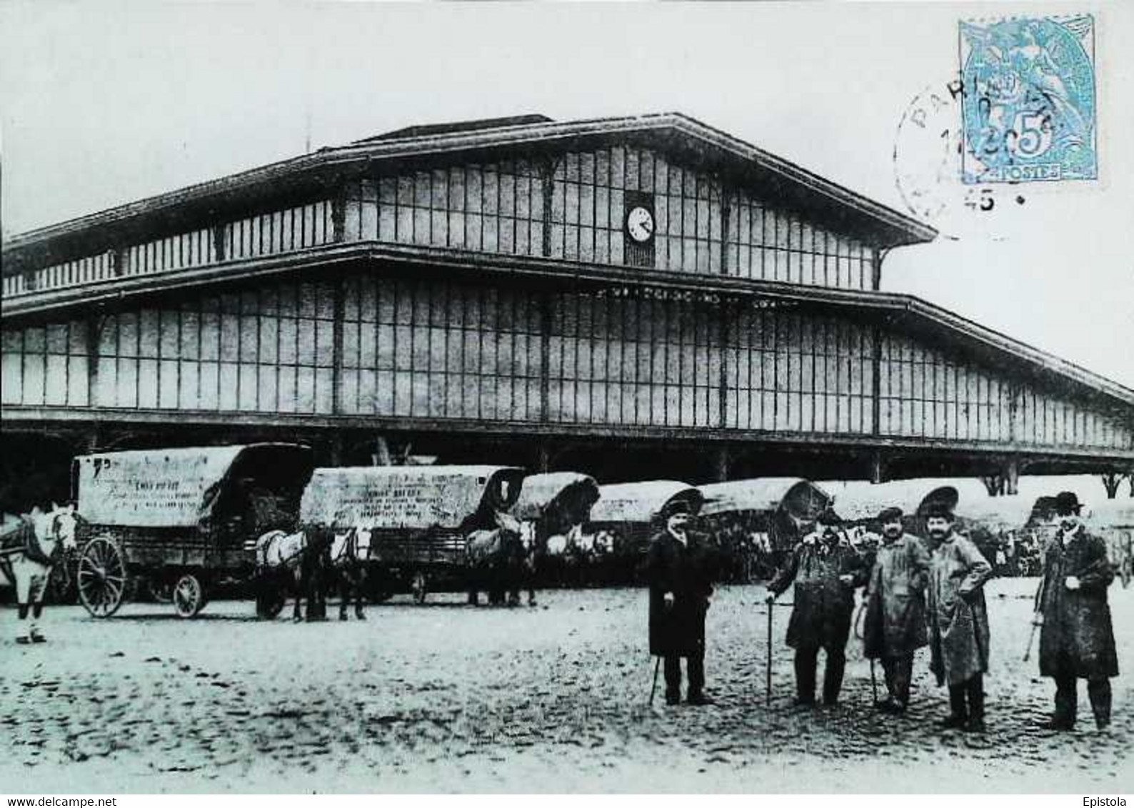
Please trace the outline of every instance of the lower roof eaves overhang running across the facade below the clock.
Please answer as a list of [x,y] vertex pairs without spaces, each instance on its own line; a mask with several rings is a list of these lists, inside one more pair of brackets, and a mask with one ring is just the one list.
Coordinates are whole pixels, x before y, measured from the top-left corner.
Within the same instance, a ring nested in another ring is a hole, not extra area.
[[608,286],[669,288],[856,312],[858,316],[879,324],[913,328],[933,339],[959,345],[990,362],[1008,358],[1017,363],[1022,369],[1026,368],[1031,375],[1046,376],[1064,383],[1072,382],[1090,394],[1105,397],[1118,405],[1134,422],[1134,410],[1132,410],[1134,390],[912,295],[803,287],[728,275],[692,275],[532,256],[475,255],[437,247],[411,247],[374,241],[335,244],[286,255],[232,261],[163,274],[132,275],[98,284],[33,292],[5,300],[0,314],[6,322],[14,318],[39,320],[52,313],[125,298],[166,294],[174,289],[248,282],[263,277],[316,267],[325,271],[359,262],[428,267],[435,272],[464,275],[468,279],[491,274],[576,288]]

